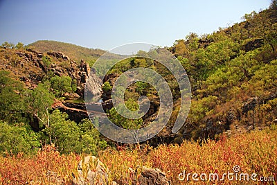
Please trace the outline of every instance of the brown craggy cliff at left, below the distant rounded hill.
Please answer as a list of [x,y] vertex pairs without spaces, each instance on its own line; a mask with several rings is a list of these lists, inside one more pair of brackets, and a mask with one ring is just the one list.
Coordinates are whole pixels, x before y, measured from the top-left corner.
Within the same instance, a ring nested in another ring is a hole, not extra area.
[[[0,70],[10,71],[30,89],[44,78],[69,76],[77,82],[76,94],[69,94],[69,98],[84,95],[84,85],[90,73],[89,64],[84,60],[75,62],[60,52],[39,53],[31,49],[5,48],[0,49]],[[100,94],[102,82],[99,79],[91,81],[95,82],[89,86],[93,93]]]

